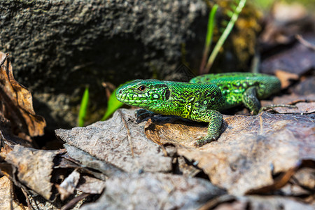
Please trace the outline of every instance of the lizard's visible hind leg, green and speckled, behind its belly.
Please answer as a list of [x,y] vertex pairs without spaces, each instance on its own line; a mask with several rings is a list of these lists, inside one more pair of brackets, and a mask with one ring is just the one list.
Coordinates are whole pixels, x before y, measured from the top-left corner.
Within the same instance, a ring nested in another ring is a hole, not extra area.
[[243,101],[244,106],[251,111],[251,114],[258,114],[260,110],[260,102],[257,98],[256,87],[249,87],[242,95],[241,99]]

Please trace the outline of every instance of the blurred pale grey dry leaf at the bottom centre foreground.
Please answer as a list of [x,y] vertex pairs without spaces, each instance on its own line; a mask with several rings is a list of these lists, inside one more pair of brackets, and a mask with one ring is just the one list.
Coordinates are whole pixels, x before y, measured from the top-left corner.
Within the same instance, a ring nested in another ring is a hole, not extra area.
[[175,174],[125,174],[106,181],[103,195],[81,209],[197,209],[225,190]]

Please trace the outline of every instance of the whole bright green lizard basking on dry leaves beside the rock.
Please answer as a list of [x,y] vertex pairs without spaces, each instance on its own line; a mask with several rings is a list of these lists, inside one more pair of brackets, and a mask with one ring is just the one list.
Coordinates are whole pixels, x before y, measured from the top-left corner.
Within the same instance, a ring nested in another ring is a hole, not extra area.
[[116,91],[120,102],[154,113],[175,115],[209,123],[207,136],[198,139],[202,146],[218,139],[222,126],[220,111],[244,104],[257,114],[258,99],[278,92],[278,78],[261,73],[218,73],[197,76],[189,83],[163,80],[134,80]]

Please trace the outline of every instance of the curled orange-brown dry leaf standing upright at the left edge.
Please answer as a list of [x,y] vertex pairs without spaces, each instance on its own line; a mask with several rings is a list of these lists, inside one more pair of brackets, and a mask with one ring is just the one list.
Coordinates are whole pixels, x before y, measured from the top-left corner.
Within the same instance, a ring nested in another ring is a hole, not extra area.
[[0,52],[0,62],[0,112],[10,120],[14,134],[43,135],[45,119],[34,112],[31,92],[14,79],[8,55]]

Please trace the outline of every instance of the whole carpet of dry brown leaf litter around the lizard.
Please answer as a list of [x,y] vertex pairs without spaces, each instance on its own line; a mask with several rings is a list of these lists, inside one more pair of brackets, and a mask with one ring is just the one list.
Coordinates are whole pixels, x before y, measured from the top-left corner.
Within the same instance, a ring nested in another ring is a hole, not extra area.
[[[36,194],[52,202],[45,204],[50,209],[102,194],[82,209],[314,209],[314,52],[309,47],[314,37],[294,36],[296,27],[286,27],[285,34],[274,26],[266,29],[264,53],[279,44],[287,49],[265,57],[261,71],[281,77],[286,94],[262,104],[296,107],[224,116],[221,137],[201,148],[193,143],[207,134],[207,123],[172,116],[136,123],[134,110],[126,109],[105,122],[56,130],[66,142],[64,150],[30,148],[36,147],[31,137],[43,134],[45,120],[34,113],[30,92],[14,80],[1,52],[0,170],[5,176],[0,207],[26,208],[13,197],[14,183],[29,208],[44,204]],[[58,197],[66,203],[56,202]]]

